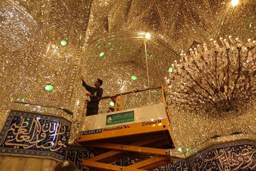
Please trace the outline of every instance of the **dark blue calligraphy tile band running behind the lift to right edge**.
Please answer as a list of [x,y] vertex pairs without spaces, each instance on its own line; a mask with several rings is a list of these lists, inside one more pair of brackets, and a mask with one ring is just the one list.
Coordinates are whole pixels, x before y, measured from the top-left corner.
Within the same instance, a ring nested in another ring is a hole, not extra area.
[[[172,164],[163,165],[152,171],[255,170],[255,143],[252,140],[239,140],[214,144],[186,159],[174,158]],[[79,171],[90,170],[88,167],[80,165],[80,161],[93,156],[84,147],[67,147],[66,160],[75,162]],[[110,164],[128,166],[137,162],[140,160],[126,157]]]

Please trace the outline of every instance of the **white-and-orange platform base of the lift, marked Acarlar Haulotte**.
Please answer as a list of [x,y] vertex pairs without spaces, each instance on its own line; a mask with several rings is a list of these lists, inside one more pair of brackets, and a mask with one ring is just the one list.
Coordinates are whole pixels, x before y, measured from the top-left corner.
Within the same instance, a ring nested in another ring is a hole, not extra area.
[[[166,137],[168,148],[174,148],[170,123],[163,103],[142,106],[81,119],[77,142],[117,142],[129,144],[148,136]],[[122,137],[122,138],[121,138]]]

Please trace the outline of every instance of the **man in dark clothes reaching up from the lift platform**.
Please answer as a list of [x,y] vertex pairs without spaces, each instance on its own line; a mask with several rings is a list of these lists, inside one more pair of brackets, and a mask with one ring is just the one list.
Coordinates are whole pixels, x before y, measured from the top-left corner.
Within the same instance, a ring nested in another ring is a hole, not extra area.
[[87,111],[86,111],[86,116],[91,116],[91,115],[97,115],[98,110],[99,110],[99,100],[96,100],[100,97],[102,97],[103,94],[103,89],[100,88],[102,85],[103,81],[101,79],[97,79],[94,82],[94,87],[88,86],[87,83],[83,80],[83,76],[81,76],[82,80],[82,86],[86,88],[86,90],[90,93],[86,93],[87,96],[90,97],[90,101],[87,103]]

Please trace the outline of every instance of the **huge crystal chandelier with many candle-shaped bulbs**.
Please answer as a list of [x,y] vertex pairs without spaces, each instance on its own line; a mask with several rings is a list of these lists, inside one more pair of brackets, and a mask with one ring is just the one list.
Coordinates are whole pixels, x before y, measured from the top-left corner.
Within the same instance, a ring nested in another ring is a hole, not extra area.
[[222,46],[210,39],[206,44],[180,54],[168,70],[168,104],[188,112],[223,114],[238,112],[255,97],[255,45],[248,39],[220,38]]

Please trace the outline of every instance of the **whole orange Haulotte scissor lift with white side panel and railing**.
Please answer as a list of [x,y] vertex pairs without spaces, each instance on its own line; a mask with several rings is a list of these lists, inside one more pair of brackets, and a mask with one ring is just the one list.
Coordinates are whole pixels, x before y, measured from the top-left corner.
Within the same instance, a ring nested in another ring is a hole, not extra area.
[[[161,90],[161,103],[121,110],[123,95],[155,89]],[[115,112],[86,116],[81,120],[77,142],[91,147],[96,155],[83,160],[82,165],[95,171],[142,171],[172,163],[173,133],[163,87],[126,92],[100,100],[111,97],[118,97],[120,101],[119,106],[115,104]],[[129,166],[110,164],[124,157],[136,158],[140,162]]]

